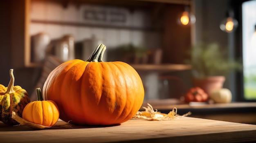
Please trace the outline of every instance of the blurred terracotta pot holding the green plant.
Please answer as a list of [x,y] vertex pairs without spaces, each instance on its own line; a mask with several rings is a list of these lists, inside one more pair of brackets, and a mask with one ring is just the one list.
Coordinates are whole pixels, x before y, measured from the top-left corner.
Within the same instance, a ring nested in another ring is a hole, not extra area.
[[202,88],[208,95],[210,95],[211,91],[222,88],[224,82],[224,76],[212,76],[204,79],[193,79],[194,86]]

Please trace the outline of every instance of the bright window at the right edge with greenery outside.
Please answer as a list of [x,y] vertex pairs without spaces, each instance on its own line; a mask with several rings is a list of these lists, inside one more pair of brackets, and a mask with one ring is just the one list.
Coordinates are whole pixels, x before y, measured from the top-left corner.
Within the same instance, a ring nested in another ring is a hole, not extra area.
[[244,98],[256,99],[256,0],[242,4]]

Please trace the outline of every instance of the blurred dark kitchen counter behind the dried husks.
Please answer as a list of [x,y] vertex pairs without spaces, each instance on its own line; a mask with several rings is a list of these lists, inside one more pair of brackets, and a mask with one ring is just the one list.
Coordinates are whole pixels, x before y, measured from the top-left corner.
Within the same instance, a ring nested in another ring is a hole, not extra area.
[[[147,107],[147,103],[163,113],[168,113],[176,107],[178,114],[192,112],[190,117],[256,124],[256,102],[183,103],[178,99],[157,99],[145,101],[142,106]],[[144,109],[141,108],[140,110],[143,111]]]

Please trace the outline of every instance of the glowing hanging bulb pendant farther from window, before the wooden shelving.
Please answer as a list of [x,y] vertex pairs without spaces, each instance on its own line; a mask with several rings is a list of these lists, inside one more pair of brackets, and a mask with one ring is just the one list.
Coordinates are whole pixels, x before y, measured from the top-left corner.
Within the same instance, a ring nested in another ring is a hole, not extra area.
[[181,25],[189,25],[195,23],[195,15],[193,15],[190,10],[189,6],[185,5],[185,9],[182,13],[178,15],[177,22]]

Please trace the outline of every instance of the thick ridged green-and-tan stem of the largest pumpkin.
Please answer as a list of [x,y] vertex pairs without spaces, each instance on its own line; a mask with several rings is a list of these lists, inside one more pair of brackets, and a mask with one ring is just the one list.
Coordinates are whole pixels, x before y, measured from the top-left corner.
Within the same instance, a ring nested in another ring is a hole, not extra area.
[[106,46],[103,44],[99,44],[97,48],[93,51],[93,53],[90,55],[89,59],[86,60],[86,62],[103,62],[102,57],[105,50]]

